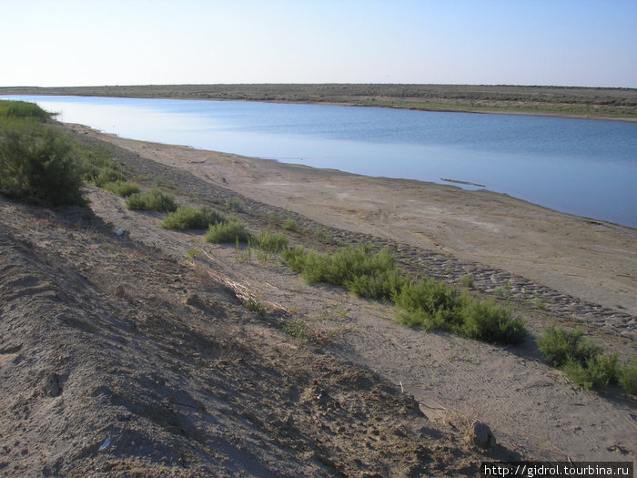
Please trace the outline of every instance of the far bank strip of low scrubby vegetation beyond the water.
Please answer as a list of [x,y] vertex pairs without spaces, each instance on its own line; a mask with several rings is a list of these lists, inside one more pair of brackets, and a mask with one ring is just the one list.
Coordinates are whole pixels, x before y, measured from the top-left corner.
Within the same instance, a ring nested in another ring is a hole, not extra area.
[[357,107],[637,121],[635,88],[381,84],[15,86],[0,87],[0,95],[328,103]]

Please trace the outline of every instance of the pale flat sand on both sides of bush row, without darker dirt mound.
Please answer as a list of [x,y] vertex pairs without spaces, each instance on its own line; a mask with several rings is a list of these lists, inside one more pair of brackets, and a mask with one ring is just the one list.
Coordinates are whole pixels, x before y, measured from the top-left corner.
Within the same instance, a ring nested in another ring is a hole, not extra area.
[[[187,194],[194,204],[210,198],[224,203],[236,194],[244,201],[239,217],[255,232],[267,227],[269,215],[294,211],[299,222],[309,220],[303,222],[309,229],[324,227],[346,243],[394,249],[399,265],[417,275],[458,283],[469,273],[476,292],[510,302],[525,320],[532,337],[523,347],[401,326],[391,320],[390,304],[307,285],[276,260],[238,260],[234,247],[208,248],[202,261],[274,310],[306,318],[319,337],[334,337],[326,350],[413,394],[436,426],[453,432],[477,419],[507,449],[538,459],[634,458],[629,444],[637,432],[634,402],[582,390],[541,361],[534,340],[557,322],[585,331],[621,360],[634,354],[634,229],[485,191],[367,178],[73,128],[116,145],[115,158],[161,178],[165,188],[178,197]],[[159,229],[155,217],[130,214],[112,195],[96,192],[91,201],[99,217],[175,257],[197,244],[197,237]],[[311,244],[311,234],[286,233],[293,243],[320,247]]]

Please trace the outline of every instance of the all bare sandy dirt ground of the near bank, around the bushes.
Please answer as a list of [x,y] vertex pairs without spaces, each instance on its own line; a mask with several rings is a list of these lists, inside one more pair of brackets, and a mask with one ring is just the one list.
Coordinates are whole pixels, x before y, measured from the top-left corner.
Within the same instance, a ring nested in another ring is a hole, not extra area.
[[[182,202],[223,208],[240,195],[254,232],[289,217],[388,246],[407,270],[450,281],[469,271],[534,335],[557,321],[622,358],[635,351],[634,229],[486,192],[74,129]],[[0,199],[6,476],[472,476],[485,459],[635,461],[634,400],[581,390],[532,339],[500,347],[406,328],[389,304],[308,286],[276,258],[89,196],[91,213]],[[497,445],[466,439],[476,420]]]

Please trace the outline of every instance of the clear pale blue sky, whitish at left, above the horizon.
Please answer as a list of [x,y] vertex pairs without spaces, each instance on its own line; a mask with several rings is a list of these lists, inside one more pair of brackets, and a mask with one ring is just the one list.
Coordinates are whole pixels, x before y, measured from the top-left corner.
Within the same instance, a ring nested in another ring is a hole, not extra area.
[[637,87],[637,0],[0,0],[0,86]]

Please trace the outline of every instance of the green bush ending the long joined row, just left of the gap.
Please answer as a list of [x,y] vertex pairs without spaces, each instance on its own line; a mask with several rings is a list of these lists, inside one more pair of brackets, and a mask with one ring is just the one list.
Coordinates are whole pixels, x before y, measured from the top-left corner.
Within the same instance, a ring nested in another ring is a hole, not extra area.
[[492,300],[480,301],[469,295],[464,296],[460,317],[460,335],[470,339],[517,345],[529,335],[521,318],[514,317],[510,308]]

